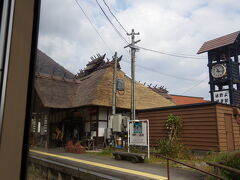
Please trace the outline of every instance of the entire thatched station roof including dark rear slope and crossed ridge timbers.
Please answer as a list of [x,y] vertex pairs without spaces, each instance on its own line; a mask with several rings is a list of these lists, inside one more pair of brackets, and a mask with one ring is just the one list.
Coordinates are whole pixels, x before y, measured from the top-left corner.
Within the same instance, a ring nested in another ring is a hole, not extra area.
[[[105,54],[91,57],[86,68],[74,76],[38,50],[35,90],[44,107],[112,106],[113,61],[104,58]],[[125,90],[118,92],[116,103],[119,108],[130,109],[131,79],[120,70],[121,58],[118,58],[117,78],[124,80]],[[136,82],[136,109],[172,105],[175,104],[166,97]]]

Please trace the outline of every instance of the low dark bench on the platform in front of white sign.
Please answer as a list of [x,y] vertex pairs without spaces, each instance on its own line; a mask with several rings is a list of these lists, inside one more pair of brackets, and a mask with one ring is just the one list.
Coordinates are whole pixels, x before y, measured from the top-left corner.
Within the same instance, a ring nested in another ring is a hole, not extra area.
[[145,154],[128,153],[128,152],[113,152],[116,160],[130,160],[133,163],[143,163],[146,158]]

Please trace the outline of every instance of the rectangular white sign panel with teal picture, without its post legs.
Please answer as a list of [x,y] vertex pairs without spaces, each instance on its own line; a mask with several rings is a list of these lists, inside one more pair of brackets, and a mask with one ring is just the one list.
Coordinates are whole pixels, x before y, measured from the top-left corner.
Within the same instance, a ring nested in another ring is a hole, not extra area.
[[132,122],[129,124],[130,128],[130,145],[137,146],[147,146],[147,123],[140,122]]

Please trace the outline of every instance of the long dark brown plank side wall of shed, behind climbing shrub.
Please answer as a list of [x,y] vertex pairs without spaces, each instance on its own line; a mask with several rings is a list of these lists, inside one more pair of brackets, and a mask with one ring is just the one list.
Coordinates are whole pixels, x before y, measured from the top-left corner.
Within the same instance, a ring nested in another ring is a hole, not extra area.
[[167,136],[165,124],[169,114],[182,118],[183,128],[180,138],[188,148],[219,151],[215,104],[140,111],[139,119],[149,120],[151,146],[156,146],[159,138]]

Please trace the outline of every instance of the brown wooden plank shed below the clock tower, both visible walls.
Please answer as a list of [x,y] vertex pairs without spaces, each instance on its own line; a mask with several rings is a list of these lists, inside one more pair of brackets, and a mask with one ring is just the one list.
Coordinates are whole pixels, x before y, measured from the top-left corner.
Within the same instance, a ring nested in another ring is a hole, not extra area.
[[[139,111],[139,119],[149,119],[150,144],[167,136],[166,120],[169,114],[183,120],[180,139],[193,150],[240,150],[240,125],[234,108],[217,103],[201,103]],[[239,111],[240,112],[240,111]],[[240,118],[240,114],[238,114]]]

